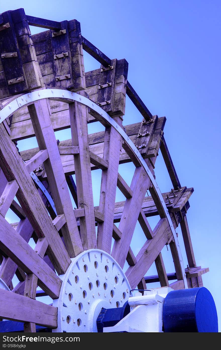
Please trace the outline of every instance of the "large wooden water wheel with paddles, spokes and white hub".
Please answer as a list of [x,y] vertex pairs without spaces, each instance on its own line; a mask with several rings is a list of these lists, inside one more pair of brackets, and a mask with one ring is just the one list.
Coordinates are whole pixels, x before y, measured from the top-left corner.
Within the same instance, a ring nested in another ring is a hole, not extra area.
[[[29,25],[48,30],[31,35]],[[36,324],[96,331],[99,308],[122,306],[130,290],[147,289],[146,283],[169,286],[173,279],[173,289],[202,286],[208,269],[196,265],[186,219],[193,189],[179,183],[164,139],[165,117],[152,116],[127,81],[127,61],[106,57],[81,36],[76,20],[43,20],[19,9],[0,15],[0,31],[0,317],[23,322],[27,332],[36,331]],[[84,73],[83,49],[100,68]],[[123,126],[126,94],[143,119]],[[104,131],[88,134],[94,122]],[[71,139],[60,142],[54,131],[64,129]],[[20,152],[16,142],[34,136],[38,147]],[[160,151],[173,186],[163,194],[154,175]],[[130,186],[118,169],[129,162]],[[95,169],[102,172],[97,207]],[[124,201],[116,202],[117,188]],[[19,222],[5,219],[9,208]],[[156,215],[152,229],[148,217]],[[137,222],[146,241],[135,256]],[[179,224],[187,269],[175,231]],[[161,254],[165,245],[172,274]],[[154,262],[158,275],[147,276]],[[13,286],[15,275],[19,282]],[[52,305],[38,300],[43,295]],[[0,323],[1,331],[21,327]]]

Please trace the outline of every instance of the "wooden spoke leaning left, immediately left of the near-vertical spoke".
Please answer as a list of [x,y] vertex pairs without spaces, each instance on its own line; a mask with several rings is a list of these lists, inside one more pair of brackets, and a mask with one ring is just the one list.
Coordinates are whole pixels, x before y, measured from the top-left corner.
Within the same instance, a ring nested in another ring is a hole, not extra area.
[[[47,149],[49,158],[44,162],[47,179],[52,192],[57,214],[64,214],[66,224],[61,232],[70,257],[83,251],[78,225],[73,216],[73,207],[68,193],[67,183],[57,147],[56,137],[51,125],[50,105],[47,99],[39,100],[28,106],[35,130],[39,149]],[[44,118],[42,117],[44,116]]]

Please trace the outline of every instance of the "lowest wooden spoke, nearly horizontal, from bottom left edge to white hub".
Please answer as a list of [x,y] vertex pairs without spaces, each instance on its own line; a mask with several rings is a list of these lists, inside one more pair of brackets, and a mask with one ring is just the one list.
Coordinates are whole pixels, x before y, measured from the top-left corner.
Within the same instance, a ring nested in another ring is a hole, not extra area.
[[19,322],[33,322],[57,328],[57,308],[23,295],[0,289],[0,317]]

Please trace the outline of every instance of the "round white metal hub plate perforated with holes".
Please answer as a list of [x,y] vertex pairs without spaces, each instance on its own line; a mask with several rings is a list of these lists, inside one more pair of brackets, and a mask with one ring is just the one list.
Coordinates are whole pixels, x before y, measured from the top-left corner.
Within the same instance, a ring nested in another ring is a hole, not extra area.
[[64,275],[59,299],[58,328],[53,332],[97,332],[96,320],[102,309],[122,307],[130,294],[129,282],[108,253],[90,249],[76,258]]

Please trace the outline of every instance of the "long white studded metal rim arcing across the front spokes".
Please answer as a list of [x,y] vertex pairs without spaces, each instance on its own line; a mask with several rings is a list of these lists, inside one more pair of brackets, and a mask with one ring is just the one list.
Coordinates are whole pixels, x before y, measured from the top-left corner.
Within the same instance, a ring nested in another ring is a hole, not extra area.
[[163,200],[163,196],[161,194],[161,191],[159,187],[157,186],[157,183],[150,172],[148,166],[146,165],[145,161],[143,160],[140,152],[136,148],[136,146],[133,144],[131,139],[127,136],[127,134],[124,132],[124,130],[116,123],[116,121],[109,116],[108,113],[106,113],[101,107],[99,107],[96,103],[92,102],[89,100],[87,97],[81,96],[78,93],[71,92],[68,90],[61,90],[61,89],[43,89],[43,90],[37,90],[37,91],[32,91],[30,93],[24,94],[13,101],[9,102],[3,109],[0,111],[0,123],[5,120],[7,117],[9,117],[11,114],[13,114],[17,109],[20,107],[23,107],[25,105],[28,105],[32,102],[35,102],[40,99],[44,98],[53,98],[53,99],[59,99],[59,100],[64,100],[64,102],[67,102],[69,100],[70,102],[80,102],[86,106],[88,106],[90,109],[94,110],[96,113],[98,113],[104,120],[108,122],[111,126],[113,126],[118,133],[123,137],[124,142],[126,142],[127,146],[130,147],[130,149],[133,151],[135,157],[139,161],[140,165],[143,166],[145,169],[150,181],[152,182],[152,185],[154,186],[154,189],[156,191],[156,194],[162,203],[162,207],[164,210],[165,217],[168,220],[168,223],[170,225],[170,229],[177,247],[177,252],[178,252],[178,257],[182,269],[182,274],[183,274],[183,281],[184,281],[184,286],[185,288],[188,288],[187,286],[187,281],[186,281],[186,274],[185,274],[185,268],[184,268],[184,263],[182,259],[182,254],[181,254],[181,249],[178,243],[178,239],[176,236],[176,231],[174,229],[174,226],[172,224],[172,220],[169,214],[169,211],[167,209],[167,206]]

